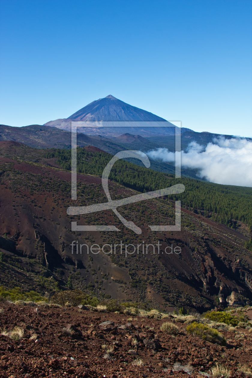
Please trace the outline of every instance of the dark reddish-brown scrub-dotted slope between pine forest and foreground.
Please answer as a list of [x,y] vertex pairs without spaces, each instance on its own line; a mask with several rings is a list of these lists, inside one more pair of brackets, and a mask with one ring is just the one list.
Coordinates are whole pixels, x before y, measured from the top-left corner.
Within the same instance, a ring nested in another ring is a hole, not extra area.
[[[72,201],[70,171],[46,165],[46,162],[53,165],[50,157],[41,157],[37,163],[28,160],[28,150],[31,156],[43,153],[42,150],[26,147],[24,161],[17,158],[20,156],[17,143],[13,149],[10,144],[3,147],[9,152],[9,158],[0,156],[0,247],[5,256],[0,264],[0,283],[3,285],[22,286],[26,290],[36,288],[41,293],[53,293],[68,286],[99,298],[138,300],[155,308],[184,305],[204,310],[216,305],[216,296],[227,303],[226,298],[232,293],[237,301],[252,300],[252,254],[244,248],[247,237],[238,231],[184,209],[181,232],[153,232],[148,226],[150,221],[152,224],[175,222],[174,202],[166,197],[119,209],[127,220],[141,226],[140,236],[125,229],[110,210],[70,217],[66,214],[69,206],[107,201],[101,178],[78,174],[78,199]],[[92,163],[99,154],[88,151],[86,160]],[[128,172],[132,173],[131,167]],[[109,182],[109,189],[113,200],[138,193],[114,181]],[[120,231],[78,233],[71,231],[71,222],[114,225]],[[161,247],[160,254],[153,254],[151,247],[147,254],[142,254],[140,249],[139,254],[127,256],[124,248],[123,254],[120,253],[119,247],[116,254],[92,255],[85,249],[77,254],[76,249],[72,253],[73,240],[79,240],[79,245],[86,244],[89,249],[94,243],[120,245],[121,241],[123,245],[142,246],[142,240],[145,245],[156,245],[159,240]],[[167,254],[165,248],[170,249],[172,245],[180,247],[181,254]],[[27,261],[18,262],[5,251],[29,257],[31,265]]]

